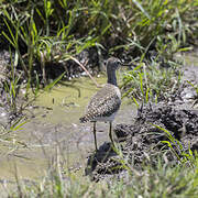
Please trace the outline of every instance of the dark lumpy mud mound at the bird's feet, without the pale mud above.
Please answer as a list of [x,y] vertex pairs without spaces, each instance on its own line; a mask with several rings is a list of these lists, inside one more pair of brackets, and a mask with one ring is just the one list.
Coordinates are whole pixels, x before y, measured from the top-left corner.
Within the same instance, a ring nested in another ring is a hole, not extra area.
[[[156,125],[167,130],[175,141]],[[198,111],[179,109],[175,103],[146,105],[139,109],[133,124],[118,124],[114,134],[118,152],[111,150],[110,143],[105,143],[88,158],[86,175],[94,180],[124,177],[124,166],[133,165],[139,169],[146,163],[155,166],[158,157],[166,163],[179,163],[162,141],[168,141],[180,158],[184,157],[182,152],[198,151]]]

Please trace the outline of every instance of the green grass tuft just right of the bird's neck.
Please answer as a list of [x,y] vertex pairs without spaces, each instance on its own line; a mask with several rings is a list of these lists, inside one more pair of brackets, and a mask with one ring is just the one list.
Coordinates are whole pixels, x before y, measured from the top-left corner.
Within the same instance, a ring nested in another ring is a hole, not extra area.
[[123,76],[123,97],[145,103],[168,100],[180,86],[182,74],[177,72],[178,68],[160,68],[156,62],[140,63]]

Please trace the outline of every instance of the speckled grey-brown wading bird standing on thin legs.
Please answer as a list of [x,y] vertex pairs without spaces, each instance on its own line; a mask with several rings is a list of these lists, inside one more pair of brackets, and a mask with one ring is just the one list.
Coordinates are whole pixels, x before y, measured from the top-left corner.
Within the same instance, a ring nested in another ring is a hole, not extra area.
[[117,85],[116,70],[123,65],[119,58],[110,57],[107,59],[107,84],[96,92],[86,109],[85,116],[79,120],[81,123],[94,122],[94,138],[95,138],[95,147],[98,151],[97,146],[97,136],[96,136],[96,122],[109,122],[109,138],[112,145],[114,145],[112,136],[112,122],[117,112],[120,109],[121,105],[121,91]]

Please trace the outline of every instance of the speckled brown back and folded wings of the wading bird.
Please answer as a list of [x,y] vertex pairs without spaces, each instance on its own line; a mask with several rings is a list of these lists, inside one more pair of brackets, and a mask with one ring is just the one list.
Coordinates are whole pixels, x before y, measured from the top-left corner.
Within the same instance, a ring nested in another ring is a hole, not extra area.
[[95,121],[100,118],[110,118],[121,105],[120,89],[111,84],[107,84],[96,95],[92,96],[86,114],[80,118],[80,122]]

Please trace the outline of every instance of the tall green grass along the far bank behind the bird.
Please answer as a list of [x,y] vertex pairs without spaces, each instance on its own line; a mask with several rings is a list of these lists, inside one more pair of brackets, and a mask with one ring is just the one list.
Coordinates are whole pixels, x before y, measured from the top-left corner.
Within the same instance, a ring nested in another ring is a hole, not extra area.
[[15,51],[29,82],[36,59],[46,84],[45,63],[62,62],[85,48],[125,51],[132,56],[155,44],[160,54],[170,58],[198,36],[197,2],[189,0],[11,0],[0,2],[0,37]]

